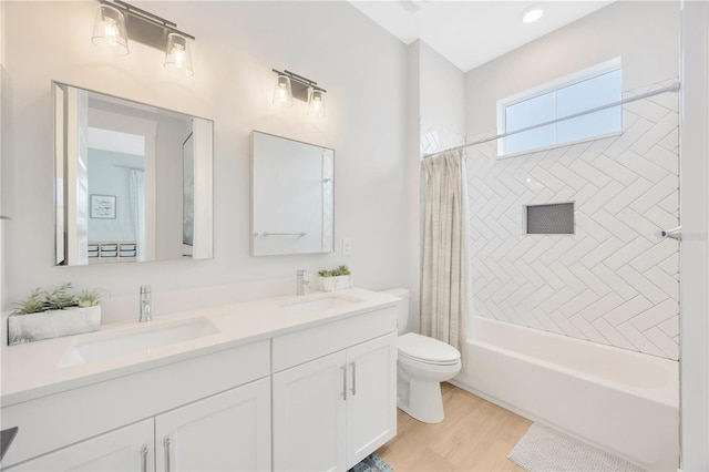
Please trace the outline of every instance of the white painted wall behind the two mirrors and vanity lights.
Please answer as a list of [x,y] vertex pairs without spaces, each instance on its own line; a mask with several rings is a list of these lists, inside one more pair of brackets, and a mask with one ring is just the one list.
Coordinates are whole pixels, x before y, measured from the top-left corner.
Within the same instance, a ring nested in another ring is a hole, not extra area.
[[[359,286],[407,285],[407,49],[346,2],[133,2],[197,40],[195,75],[177,78],[160,51],[131,44],[106,57],[90,37],[96,2],[3,2],[7,82],[2,102],[4,307],[31,288],[71,280],[113,296],[292,278],[348,264]],[[305,103],[271,105],[275,69],[319,82],[328,117]],[[215,121],[215,258],[111,267],[53,267],[51,80]],[[249,256],[249,132],[336,150],[336,254]],[[352,240],[343,257],[341,238]],[[158,309],[158,308],[156,308]],[[132,317],[133,314],[126,315]]]

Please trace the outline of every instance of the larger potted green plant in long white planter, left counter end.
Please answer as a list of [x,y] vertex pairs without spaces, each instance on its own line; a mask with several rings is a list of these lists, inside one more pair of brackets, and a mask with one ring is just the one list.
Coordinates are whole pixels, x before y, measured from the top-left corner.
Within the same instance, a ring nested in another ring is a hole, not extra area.
[[70,293],[71,283],[35,288],[8,317],[8,345],[95,331],[101,327],[101,291]]

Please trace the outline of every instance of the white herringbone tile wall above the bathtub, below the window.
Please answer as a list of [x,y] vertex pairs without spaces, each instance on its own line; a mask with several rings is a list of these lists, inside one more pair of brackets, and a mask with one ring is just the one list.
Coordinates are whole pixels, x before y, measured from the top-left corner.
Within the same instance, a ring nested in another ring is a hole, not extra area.
[[[626,93],[636,95],[676,81]],[[474,314],[678,358],[678,94],[624,105],[619,136],[497,160],[467,148]],[[574,235],[524,235],[523,205],[575,202]]]

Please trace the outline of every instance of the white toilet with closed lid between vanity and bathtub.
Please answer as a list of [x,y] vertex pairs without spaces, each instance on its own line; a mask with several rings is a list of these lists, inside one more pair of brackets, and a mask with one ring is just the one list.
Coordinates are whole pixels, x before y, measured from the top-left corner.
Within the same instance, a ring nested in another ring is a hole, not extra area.
[[409,326],[409,290],[393,288],[383,294],[401,298],[398,310],[399,360],[397,362],[397,403],[411,417],[424,423],[443,421],[441,382],[461,371],[461,353],[438,339],[407,332]]

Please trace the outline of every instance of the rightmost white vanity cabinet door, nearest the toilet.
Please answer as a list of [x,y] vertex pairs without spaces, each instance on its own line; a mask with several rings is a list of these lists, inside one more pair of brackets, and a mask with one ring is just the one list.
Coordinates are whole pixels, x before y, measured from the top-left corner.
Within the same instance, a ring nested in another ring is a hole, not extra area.
[[397,434],[397,335],[347,350],[347,466]]

